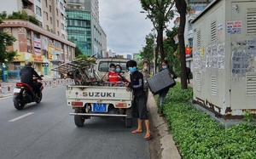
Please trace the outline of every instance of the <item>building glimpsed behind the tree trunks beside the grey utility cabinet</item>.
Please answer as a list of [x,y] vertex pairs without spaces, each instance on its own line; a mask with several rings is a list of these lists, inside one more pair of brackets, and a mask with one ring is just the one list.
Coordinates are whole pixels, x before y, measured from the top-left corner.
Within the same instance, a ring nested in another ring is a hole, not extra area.
[[[186,15],[186,25],[184,30],[184,40],[186,46],[186,63],[189,68],[192,68],[192,47],[193,47],[193,25],[191,21],[195,19],[197,14],[200,14],[203,9],[207,8],[207,4],[211,3],[212,0],[186,0],[187,5],[191,9],[189,14]],[[174,27],[178,27],[180,23],[180,17],[177,17],[176,20],[173,21]],[[178,44],[177,35],[173,37],[176,44]]]

